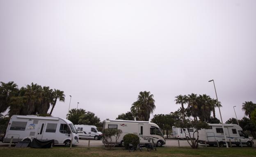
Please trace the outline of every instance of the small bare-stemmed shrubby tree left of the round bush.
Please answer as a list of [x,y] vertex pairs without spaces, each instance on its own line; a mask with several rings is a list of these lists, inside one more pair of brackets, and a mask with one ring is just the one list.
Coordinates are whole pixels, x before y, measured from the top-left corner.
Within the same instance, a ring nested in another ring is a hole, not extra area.
[[[116,128],[106,128],[103,130],[103,140],[104,145],[107,144],[109,150],[114,150],[114,146],[117,145],[117,140],[119,139],[120,135],[122,134],[122,130]],[[113,142],[114,137],[114,142]],[[114,143],[114,144],[113,144]]]

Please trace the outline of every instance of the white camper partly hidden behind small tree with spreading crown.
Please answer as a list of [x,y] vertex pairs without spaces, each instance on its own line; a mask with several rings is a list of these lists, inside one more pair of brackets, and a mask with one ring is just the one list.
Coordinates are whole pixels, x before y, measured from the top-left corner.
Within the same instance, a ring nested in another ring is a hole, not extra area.
[[[187,138],[193,138],[194,129],[190,128],[189,130],[185,128],[176,128],[175,126],[172,126],[172,134],[174,138],[179,139],[187,139]],[[190,134],[190,136],[189,136]]]

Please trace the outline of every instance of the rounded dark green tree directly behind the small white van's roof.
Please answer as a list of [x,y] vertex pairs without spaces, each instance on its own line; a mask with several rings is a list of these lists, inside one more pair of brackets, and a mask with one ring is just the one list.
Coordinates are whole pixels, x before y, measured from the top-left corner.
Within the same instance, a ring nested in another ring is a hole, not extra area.
[[94,125],[97,126],[101,122],[100,118],[95,116],[94,113],[88,111],[79,117],[79,124]]

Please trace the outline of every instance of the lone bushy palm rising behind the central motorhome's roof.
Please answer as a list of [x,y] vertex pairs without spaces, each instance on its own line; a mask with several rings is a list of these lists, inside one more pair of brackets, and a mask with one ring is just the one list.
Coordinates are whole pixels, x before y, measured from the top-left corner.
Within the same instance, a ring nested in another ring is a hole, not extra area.
[[138,100],[132,104],[131,113],[136,120],[149,121],[150,114],[155,110],[154,95],[150,92],[139,92]]

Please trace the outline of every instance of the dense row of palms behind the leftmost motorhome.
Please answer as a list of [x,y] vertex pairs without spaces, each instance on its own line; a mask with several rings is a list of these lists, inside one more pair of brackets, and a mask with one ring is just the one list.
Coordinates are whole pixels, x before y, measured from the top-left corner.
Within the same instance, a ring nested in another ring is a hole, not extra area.
[[[64,91],[34,84],[18,88],[13,81],[0,84],[0,113],[8,115],[52,115],[57,100],[64,102]],[[48,110],[52,106],[50,113]]]

